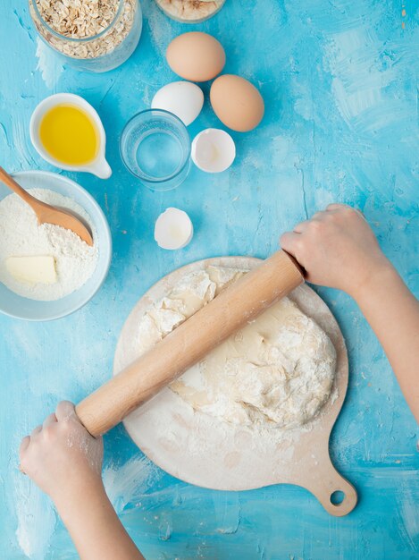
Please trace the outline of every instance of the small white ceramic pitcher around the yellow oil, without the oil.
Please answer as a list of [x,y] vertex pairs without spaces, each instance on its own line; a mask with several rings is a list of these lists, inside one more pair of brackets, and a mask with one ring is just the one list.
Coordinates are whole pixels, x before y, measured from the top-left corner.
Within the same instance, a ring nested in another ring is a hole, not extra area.
[[[90,116],[96,125],[96,130],[99,134],[99,149],[95,159],[86,165],[63,164],[61,161],[51,157],[39,139],[39,126],[46,112],[54,106],[62,105],[64,103],[80,107],[80,109]],[[96,177],[99,177],[100,179],[108,179],[108,177],[111,176],[112,169],[105,159],[106,136],[104,125],[102,124],[99,115],[97,115],[96,110],[88,103],[88,101],[86,101],[86,99],[80,98],[80,96],[73,93],[56,93],[49,96],[49,98],[45,98],[38,104],[30,117],[29,133],[30,140],[34,148],[38,151],[39,156],[43,157],[49,164],[55,165],[55,167],[65,169],[67,171],[85,171],[96,175]]]

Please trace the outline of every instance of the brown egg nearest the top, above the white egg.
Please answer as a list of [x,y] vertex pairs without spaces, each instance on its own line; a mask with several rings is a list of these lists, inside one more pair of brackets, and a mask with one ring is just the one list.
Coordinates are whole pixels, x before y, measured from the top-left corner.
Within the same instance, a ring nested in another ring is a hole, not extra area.
[[225,53],[216,38],[191,31],[172,40],[166,59],[173,72],[189,81],[213,80],[224,68]]

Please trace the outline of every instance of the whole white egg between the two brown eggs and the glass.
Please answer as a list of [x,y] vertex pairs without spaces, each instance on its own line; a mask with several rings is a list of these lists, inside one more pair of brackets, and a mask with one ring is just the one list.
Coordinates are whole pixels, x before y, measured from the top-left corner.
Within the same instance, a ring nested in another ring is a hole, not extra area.
[[193,123],[204,105],[204,94],[190,81],[173,81],[159,89],[151,102],[152,109],[164,109],[188,126]]

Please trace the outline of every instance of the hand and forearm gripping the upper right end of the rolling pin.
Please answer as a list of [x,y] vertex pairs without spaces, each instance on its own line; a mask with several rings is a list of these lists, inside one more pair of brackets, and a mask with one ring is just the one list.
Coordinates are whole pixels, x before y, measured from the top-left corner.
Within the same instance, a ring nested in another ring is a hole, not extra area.
[[419,421],[419,301],[381,252],[364,216],[331,204],[284,233],[281,247],[306,268],[309,282],[339,288],[356,300]]

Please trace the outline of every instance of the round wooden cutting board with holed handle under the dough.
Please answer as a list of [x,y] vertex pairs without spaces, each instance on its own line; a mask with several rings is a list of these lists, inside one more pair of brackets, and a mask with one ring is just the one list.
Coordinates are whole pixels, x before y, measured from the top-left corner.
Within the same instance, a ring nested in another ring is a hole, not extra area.
[[[259,259],[219,257],[175,270],[157,282],[137,303],[122,328],[113,362],[116,374],[138,358],[135,338],[140,318],[172,291],[180,278],[208,265],[251,269]],[[348,354],[336,319],[307,285],[289,298],[331,338],[337,370],[331,398],[306,426],[252,430],[194,411],[168,387],[124,420],[130,437],[164,471],[191,484],[222,490],[246,490],[272,484],[296,484],[314,494],[332,515],[346,515],[356,506],[356,490],[339,475],[329,455],[331,428],[348,387]],[[331,495],[343,492],[338,504]]]

